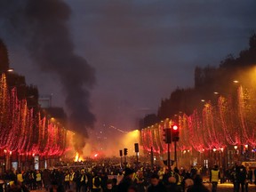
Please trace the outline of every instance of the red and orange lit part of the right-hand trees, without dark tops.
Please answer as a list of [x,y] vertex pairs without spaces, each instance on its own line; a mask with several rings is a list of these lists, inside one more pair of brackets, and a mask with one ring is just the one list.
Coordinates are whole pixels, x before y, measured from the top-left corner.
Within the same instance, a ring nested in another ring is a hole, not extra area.
[[[255,70],[256,75],[256,70]],[[195,109],[192,115],[184,113],[173,116],[141,129],[140,143],[150,151],[166,153],[164,129],[173,124],[180,126],[180,151],[204,152],[209,149],[224,149],[228,146],[256,147],[256,89],[237,87],[236,97],[219,95],[215,102],[202,102],[202,109]],[[214,104],[212,104],[214,103]]]

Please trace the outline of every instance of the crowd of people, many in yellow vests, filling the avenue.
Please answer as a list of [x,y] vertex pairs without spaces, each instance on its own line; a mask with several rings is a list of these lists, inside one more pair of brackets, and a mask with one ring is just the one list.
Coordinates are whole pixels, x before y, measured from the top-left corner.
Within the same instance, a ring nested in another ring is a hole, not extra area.
[[[210,174],[211,188],[206,188],[203,183],[205,174]],[[7,185],[1,190],[27,192],[45,188],[50,192],[215,192],[220,180],[220,183],[232,182],[234,192],[239,192],[239,188],[247,192],[253,174],[256,174],[256,170],[246,170],[242,164],[225,171],[217,165],[211,170],[193,166],[189,170],[179,170],[177,167],[168,170],[156,165],[152,168],[147,164],[137,169],[122,169],[120,165],[113,164],[84,164],[84,167],[6,172],[3,179]]]

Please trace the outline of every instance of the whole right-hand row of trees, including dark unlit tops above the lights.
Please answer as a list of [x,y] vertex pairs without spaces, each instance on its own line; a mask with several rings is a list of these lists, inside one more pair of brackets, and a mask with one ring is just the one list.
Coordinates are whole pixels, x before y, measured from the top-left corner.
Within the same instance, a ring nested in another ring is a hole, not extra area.
[[253,34],[249,48],[238,57],[228,55],[219,68],[197,67],[193,88],[176,89],[170,98],[161,101],[157,115],[148,115],[140,121],[143,147],[166,152],[163,130],[174,121],[180,125],[180,150],[194,148],[203,152],[223,150],[230,145],[255,148],[255,63],[256,34]]

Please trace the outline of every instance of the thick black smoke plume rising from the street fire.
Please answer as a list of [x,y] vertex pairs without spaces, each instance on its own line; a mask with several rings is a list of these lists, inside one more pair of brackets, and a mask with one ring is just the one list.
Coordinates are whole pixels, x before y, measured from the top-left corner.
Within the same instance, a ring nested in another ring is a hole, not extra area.
[[68,4],[62,0],[0,0],[0,20],[28,39],[28,52],[42,71],[59,77],[70,111],[70,128],[80,135],[75,136],[75,147],[82,153],[87,128],[95,122],[90,111],[95,71],[74,52],[68,29],[70,14]]

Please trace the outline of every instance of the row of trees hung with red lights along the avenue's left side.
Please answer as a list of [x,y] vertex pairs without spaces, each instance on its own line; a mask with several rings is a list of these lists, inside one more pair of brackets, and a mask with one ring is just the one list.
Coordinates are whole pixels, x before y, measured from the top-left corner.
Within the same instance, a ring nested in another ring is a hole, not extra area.
[[6,76],[0,79],[0,148],[20,154],[60,156],[69,146],[69,134],[27,100],[19,100],[16,87],[8,87]]

